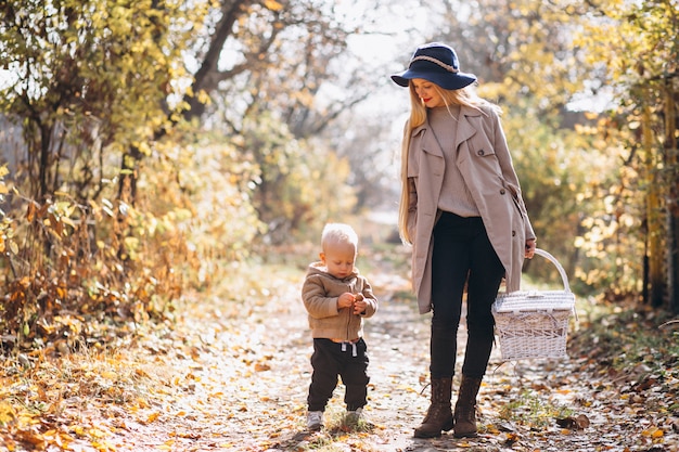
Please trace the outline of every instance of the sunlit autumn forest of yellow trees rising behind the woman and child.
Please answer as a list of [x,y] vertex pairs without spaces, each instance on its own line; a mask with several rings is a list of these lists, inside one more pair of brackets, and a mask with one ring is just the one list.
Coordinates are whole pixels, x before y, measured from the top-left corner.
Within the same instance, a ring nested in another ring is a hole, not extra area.
[[388,75],[433,40],[502,106],[539,245],[574,292],[679,313],[678,9],[0,2],[2,348],[171,319],[330,220],[398,241],[408,95]]

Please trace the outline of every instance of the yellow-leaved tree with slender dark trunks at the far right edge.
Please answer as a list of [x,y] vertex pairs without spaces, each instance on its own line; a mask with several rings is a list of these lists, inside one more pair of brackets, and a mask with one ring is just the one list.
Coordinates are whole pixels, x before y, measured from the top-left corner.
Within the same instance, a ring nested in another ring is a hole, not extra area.
[[[618,107],[612,112],[626,140],[626,165],[639,175],[633,186],[643,206],[644,300],[679,312],[677,100],[679,11],[671,0],[605,8],[590,4],[592,20],[580,46],[602,69]],[[633,258],[633,257],[630,257]]]

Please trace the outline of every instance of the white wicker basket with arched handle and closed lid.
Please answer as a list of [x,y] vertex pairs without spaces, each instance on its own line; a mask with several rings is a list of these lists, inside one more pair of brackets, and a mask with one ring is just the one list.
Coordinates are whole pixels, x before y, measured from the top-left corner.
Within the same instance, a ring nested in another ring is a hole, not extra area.
[[575,295],[561,263],[543,249],[561,274],[563,290],[517,290],[499,294],[492,305],[502,360],[565,358],[568,321],[575,314]]

